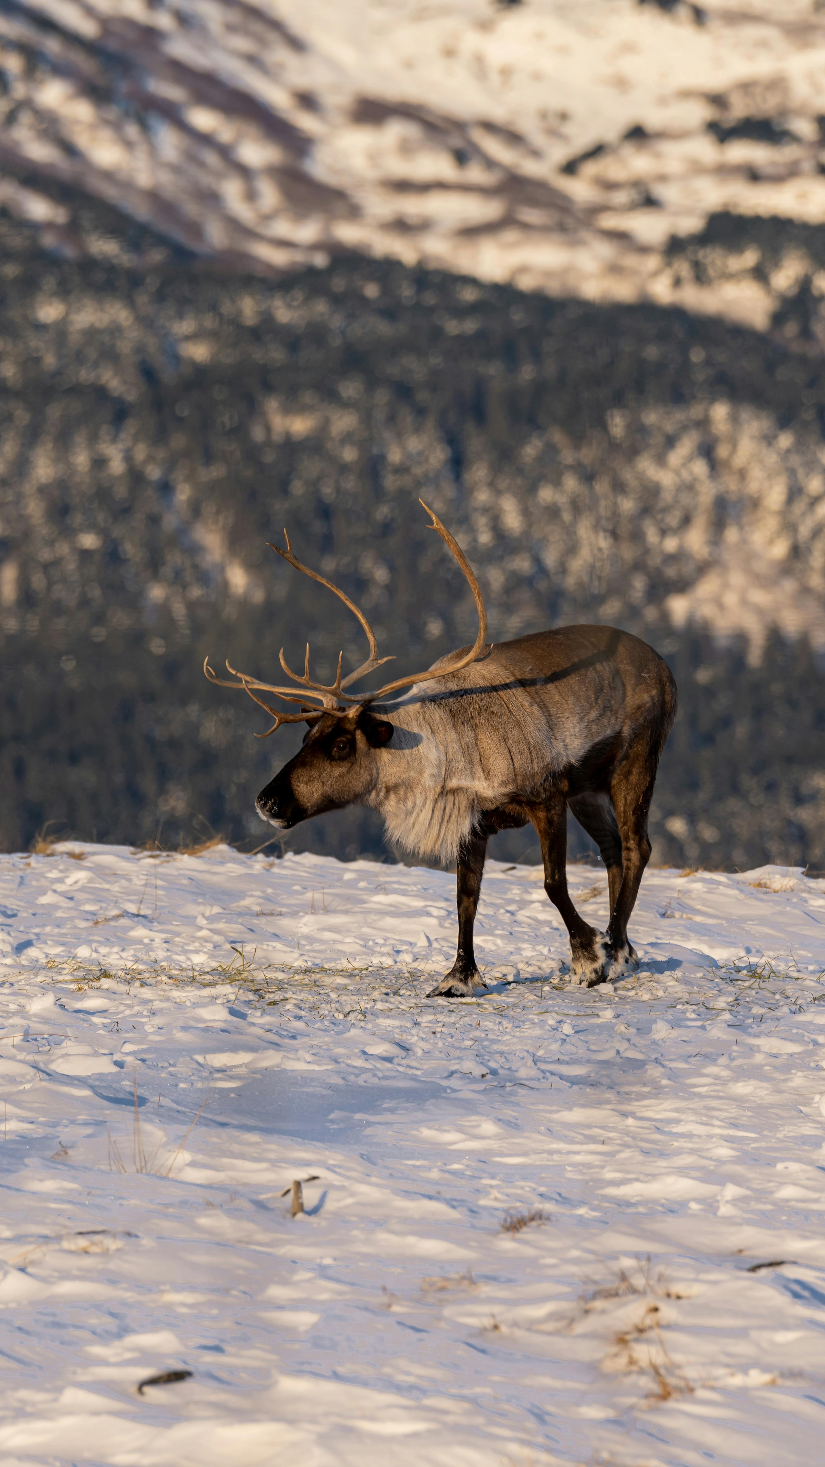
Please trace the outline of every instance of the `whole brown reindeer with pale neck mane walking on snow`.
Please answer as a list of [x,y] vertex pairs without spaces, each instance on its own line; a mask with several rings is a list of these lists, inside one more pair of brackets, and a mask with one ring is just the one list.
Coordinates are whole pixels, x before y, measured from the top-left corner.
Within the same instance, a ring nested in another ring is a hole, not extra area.
[[[423,500],[421,500],[423,505]],[[217,678],[242,688],[274,723],[308,723],[303,747],[261,791],[264,820],[290,830],[300,820],[365,804],[378,810],[390,839],[413,855],[457,864],[459,948],[431,998],[469,998],[484,987],[473,951],[487,844],[498,830],[532,822],[544,860],[544,889],[570,934],[571,983],[592,987],[637,961],[627,921],[651,857],[648,811],[656,767],[676,717],[676,682],[646,643],[614,626],[563,626],[507,643],[487,641],[478,581],[438,515],[423,505],[473,593],[478,635],[472,647],[441,657],[426,672],[396,678],[375,692],[347,689],[390,657],[378,656],[369,622],[331,581],[271,546],[289,565],[333,591],[360,622],[369,657],[333,684],[292,672],[287,685],[236,672]],[[403,698],[385,700],[407,689]],[[261,692],[299,706],[283,713]],[[599,848],[607,867],[610,921],[596,932],[567,890],[567,808]]]

